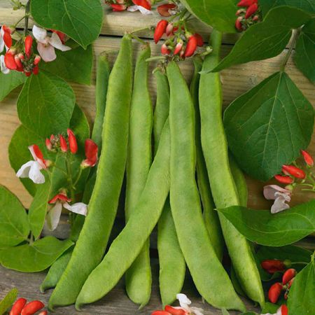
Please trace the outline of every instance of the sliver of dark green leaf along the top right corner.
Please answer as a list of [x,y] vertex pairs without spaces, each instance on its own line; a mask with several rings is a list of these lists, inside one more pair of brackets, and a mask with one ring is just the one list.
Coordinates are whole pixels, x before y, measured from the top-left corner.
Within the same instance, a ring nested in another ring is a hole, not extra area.
[[265,16],[269,10],[276,6],[292,6],[300,8],[309,13],[315,13],[315,2],[312,0],[260,0],[262,15]]

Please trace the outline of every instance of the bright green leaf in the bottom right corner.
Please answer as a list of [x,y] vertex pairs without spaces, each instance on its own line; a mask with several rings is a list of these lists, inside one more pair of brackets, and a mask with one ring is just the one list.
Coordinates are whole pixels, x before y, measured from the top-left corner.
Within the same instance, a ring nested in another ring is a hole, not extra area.
[[311,315],[315,309],[314,254],[309,265],[295,276],[288,295],[288,314]]

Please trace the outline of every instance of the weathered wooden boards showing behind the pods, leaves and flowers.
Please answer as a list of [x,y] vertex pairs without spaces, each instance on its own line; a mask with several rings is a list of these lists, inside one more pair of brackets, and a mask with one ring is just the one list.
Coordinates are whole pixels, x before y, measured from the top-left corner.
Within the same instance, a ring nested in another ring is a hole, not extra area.
[[[104,50],[118,50],[120,45],[120,37],[123,36],[125,31],[134,31],[135,29],[141,29],[148,25],[156,25],[156,22],[160,19],[158,15],[140,15],[140,13],[113,13],[111,10],[104,8],[104,25],[102,27],[102,34],[94,43],[95,57]],[[23,11],[13,11],[10,6],[9,0],[0,0],[0,22],[6,25],[13,25],[20,17],[22,17]],[[201,22],[194,20],[192,22],[193,27],[204,36],[207,41],[211,29]],[[31,27],[31,23],[30,23]],[[151,43],[153,55],[158,55],[160,45],[155,45],[152,41],[153,34],[151,31],[141,31],[139,36],[145,38]],[[227,55],[230,52],[233,44],[237,40],[238,35],[225,35],[223,37],[223,55]],[[134,43],[135,50],[139,50],[139,44]],[[136,54],[135,54],[136,55]],[[232,66],[230,69],[222,71],[223,82],[223,97],[224,106],[228,106],[233,99],[243,94],[251,87],[260,83],[261,80],[267,78],[275,71],[279,71],[279,66],[283,57],[285,57],[286,51],[284,51],[278,57],[272,59],[266,59],[260,62],[250,62],[248,64],[241,64],[239,66]],[[152,69],[155,65],[152,65]],[[187,80],[190,80],[190,76],[193,71],[193,67],[190,61],[182,62],[181,69]],[[312,85],[307,78],[293,64],[292,57],[290,58],[288,65],[286,66],[290,78],[292,78],[295,84],[300,87],[300,90],[304,93],[305,97],[309,99],[313,106],[315,105],[314,85]],[[74,92],[76,93],[76,99],[78,105],[85,111],[87,118],[91,125],[95,114],[95,102],[94,102],[94,83],[95,83],[95,71],[93,69],[93,82],[92,85],[78,85],[71,84]],[[151,79],[150,82],[151,92],[153,100],[155,99],[155,82]],[[1,87],[0,87],[1,88]],[[17,88],[13,92],[0,102],[0,183],[13,191],[25,207],[28,207],[31,202],[31,197],[22,186],[18,178],[15,176],[15,172],[10,167],[8,160],[8,145],[15,129],[20,125],[18,120],[18,114],[16,111],[16,101],[20,88]],[[315,138],[311,141],[309,148],[310,153],[315,153]],[[270,204],[262,197],[262,187],[265,183],[259,183],[253,179],[248,178],[249,188],[249,206],[254,208],[266,208]],[[305,202],[311,199],[313,196],[305,193],[296,193],[293,197],[293,204]],[[156,277],[157,272],[155,272]],[[21,290],[21,295],[25,295],[29,298],[40,298],[47,301],[48,295],[41,296],[38,294],[38,286],[43,279],[43,273],[40,274],[19,274],[18,272],[9,271],[0,267],[0,297],[3,297],[8,288],[18,286]],[[156,284],[156,281],[155,281]],[[186,292],[190,293],[193,297],[193,302],[196,302],[196,306],[201,306],[206,309],[205,314],[221,314],[221,311],[214,310],[211,307],[202,306],[200,297],[197,297],[195,290],[190,283],[186,285]],[[215,289],[215,288],[214,288]],[[106,304],[106,308],[102,307],[102,304]],[[125,296],[123,286],[120,286],[112,291],[104,300],[101,300],[97,304],[93,304],[89,310],[83,311],[81,314],[150,314],[153,309],[160,306],[158,298],[158,289],[153,287],[153,298],[151,303],[143,311],[137,311],[137,307],[134,306]],[[104,311],[104,309],[106,309]],[[55,314],[75,314],[73,307],[66,309],[59,309]]]

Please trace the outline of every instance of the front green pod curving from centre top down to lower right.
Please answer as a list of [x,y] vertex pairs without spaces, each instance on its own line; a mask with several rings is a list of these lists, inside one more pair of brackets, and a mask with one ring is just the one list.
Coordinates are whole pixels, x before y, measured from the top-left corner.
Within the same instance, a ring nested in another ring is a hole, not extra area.
[[199,293],[218,308],[244,311],[225,269],[218,260],[202,218],[195,182],[195,109],[179,66],[167,66],[170,87],[172,215],[179,244]]

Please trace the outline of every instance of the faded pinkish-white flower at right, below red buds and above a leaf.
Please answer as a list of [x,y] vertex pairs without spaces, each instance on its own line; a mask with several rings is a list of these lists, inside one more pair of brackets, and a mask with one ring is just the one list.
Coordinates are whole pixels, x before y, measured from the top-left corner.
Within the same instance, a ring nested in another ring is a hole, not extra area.
[[290,202],[292,192],[278,185],[267,185],[264,187],[264,196],[267,200],[274,200],[271,207],[271,213],[276,214],[280,211],[289,209],[286,202]]

